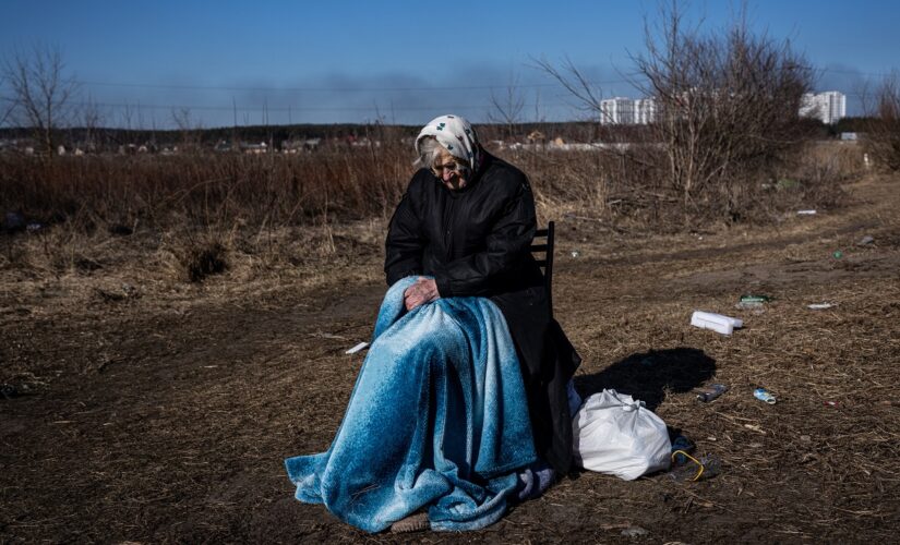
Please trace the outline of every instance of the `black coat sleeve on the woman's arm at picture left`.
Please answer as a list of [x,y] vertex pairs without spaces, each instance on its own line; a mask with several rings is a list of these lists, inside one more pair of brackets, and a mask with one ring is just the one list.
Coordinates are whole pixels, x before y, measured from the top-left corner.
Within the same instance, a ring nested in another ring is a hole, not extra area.
[[384,274],[388,286],[400,278],[422,274],[422,252],[425,240],[422,237],[422,222],[415,205],[416,179],[409,183],[391,225],[385,240]]

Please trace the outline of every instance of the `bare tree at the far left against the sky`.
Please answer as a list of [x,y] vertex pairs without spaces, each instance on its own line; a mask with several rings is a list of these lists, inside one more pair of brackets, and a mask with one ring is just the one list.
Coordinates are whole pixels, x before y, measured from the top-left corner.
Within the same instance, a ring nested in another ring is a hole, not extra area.
[[55,131],[72,114],[77,83],[68,76],[59,48],[34,46],[29,55],[15,52],[5,59],[3,77],[13,96],[12,116],[34,131],[35,140],[49,156],[55,150]]

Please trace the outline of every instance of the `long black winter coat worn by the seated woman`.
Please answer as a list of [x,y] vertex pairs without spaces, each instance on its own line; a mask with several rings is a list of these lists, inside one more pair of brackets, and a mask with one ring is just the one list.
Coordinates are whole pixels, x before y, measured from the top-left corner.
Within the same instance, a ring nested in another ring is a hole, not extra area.
[[528,179],[490,154],[458,191],[421,169],[391,220],[384,270],[388,286],[431,275],[442,298],[478,295],[496,303],[519,358],[535,447],[565,473],[572,457],[566,383],[580,359],[552,317],[529,251],[536,225]]

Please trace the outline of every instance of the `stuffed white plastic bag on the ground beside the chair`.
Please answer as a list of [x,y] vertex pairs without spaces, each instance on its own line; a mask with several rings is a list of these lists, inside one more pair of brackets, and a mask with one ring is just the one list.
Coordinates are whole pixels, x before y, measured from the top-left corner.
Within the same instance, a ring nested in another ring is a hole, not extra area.
[[615,390],[590,396],[572,419],[576,463],[633,481],[671,462],[672,444],[662,419],[644,401]]

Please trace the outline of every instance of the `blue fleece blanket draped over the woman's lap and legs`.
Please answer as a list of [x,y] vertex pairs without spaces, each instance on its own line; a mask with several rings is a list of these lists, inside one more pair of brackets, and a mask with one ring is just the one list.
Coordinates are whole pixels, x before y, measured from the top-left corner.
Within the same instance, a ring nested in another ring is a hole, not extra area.
[[432,530],[497,521],[537,460],[506,322],[482,298],[410,313],[391,287],[350,403],[326,452],[285,460],[297,499],[368,532],[428,508]]

